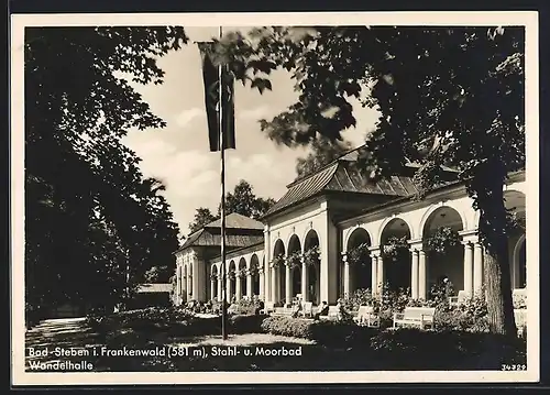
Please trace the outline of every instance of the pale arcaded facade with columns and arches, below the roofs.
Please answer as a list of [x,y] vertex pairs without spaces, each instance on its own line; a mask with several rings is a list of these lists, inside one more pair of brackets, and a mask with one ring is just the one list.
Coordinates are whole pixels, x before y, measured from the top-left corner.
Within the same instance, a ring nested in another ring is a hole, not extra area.
[[[510,178],[505,187],[506,206],[525,216],[525,174]],[[345,205],[345,197],[339,201]],[[278,305],[300,294],[306,301],[334,304],[356,288],[380,292],[382,283],[396,282],[410,288],[414,298],[426,299],[431,284],[447,276],[462,295],[473,295],[484,283],[483,248],[477,238],[479,211],[472,207],[465,188],[449,186],[429,194],[424,200],[396,199],[363,213],[336,219],[334,205],[323,195],[282,210],[266,220],[263,245],[244,248],[228,254],[228,300],[257,295]],[[424,251],[422,238],[430,229],[451,227],[462,238],[453,253],[433,256]],[[410,246],[408,262],[384,262],[381,245],[391,235],[406,237]],[[510,234],[509,257],[513,287],[525,287],[525,234]],[[346,252],[358,243],[367,243],[370,265],[358,267],[348,262]],[[301,266],[278,265],[274,257],[305,252],[318,245],[319,263]],[[177,289],[180,300],[221,300],[220,259],[200,261],[196,250],[177,255]],[[212,275],[213,274],[213,275]],[[241,276],[240,276],[241,275]]]

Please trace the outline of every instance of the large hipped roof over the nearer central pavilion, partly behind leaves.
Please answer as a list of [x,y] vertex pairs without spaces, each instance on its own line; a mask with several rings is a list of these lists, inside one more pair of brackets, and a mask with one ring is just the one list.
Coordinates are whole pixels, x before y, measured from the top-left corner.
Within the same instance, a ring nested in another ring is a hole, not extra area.
[[[413,175],[418,167],[417,165],[407,164],[402,175],[373,182],[355,165],[360,149],[352,150],[318,172],[289,184],[286,194],[263,218],[320,195],[323,191],[360,193],[365,195],[395,196],[396,198],[413,196],[418,191],[413,182]],[[450,169],[446,171],[451,173]]]

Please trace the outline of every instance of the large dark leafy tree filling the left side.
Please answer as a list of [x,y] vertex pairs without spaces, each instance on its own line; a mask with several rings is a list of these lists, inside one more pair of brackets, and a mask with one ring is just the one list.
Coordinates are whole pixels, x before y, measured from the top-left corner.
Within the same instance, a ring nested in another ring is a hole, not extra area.
[[163,184],[122,144],[165,122],[125,78],[162,84],[183,28],[25,30],[25,301],[109,307],[177,248]]

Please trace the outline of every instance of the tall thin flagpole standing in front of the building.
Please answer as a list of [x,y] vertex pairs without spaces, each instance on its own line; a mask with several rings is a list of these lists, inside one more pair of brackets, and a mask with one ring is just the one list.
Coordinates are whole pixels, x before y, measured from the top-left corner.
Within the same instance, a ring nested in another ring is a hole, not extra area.
[[[223,31],[222,26],[220,26],[219,35],[222,37]],[[220,205],[220,215],[221,215],[221,271],[223,273],[222,276],[222,305],[221,305],[221,337],[223,340],[228,339],[227,331],[227,303],[228,300],[228,289],[227,289],[227,270],[226,270],[226,144],[223,139],[223,108],[222,108],[222,98],[223,98],[223,84],[222,84],[222,65],[218,66],[218,122],[219,122],[219,133],[220,133],[220,152],[221,152],[221,164],[220,164],[220,176],[221,176],[221,205]]]

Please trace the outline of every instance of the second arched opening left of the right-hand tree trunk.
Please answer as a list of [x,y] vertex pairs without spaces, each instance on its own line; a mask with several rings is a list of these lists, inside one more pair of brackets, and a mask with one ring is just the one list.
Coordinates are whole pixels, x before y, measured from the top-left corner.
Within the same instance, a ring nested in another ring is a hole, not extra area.
[[410,228],[400,218],[392,219],[382,231],[383,284],[393,292],[410,288]]

